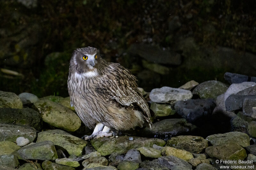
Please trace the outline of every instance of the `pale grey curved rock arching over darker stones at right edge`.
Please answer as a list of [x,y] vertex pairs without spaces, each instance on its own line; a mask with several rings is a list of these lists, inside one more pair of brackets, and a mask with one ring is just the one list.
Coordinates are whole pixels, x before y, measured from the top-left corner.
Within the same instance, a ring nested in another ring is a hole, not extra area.
[[248,87],[252,87],[256,85],[254,82],[243,82],[238,84],[232,84],[228,87],[228,90],[225,92],[224,101],[230,96],[231,94],[236,94],[237,92],[240,92]]

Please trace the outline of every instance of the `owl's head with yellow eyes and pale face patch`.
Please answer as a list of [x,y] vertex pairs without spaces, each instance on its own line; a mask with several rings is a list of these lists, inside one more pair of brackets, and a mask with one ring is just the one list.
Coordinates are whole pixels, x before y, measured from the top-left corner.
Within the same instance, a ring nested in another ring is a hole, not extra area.
[[79,73],[93,71],[98,68],[100,55],[97,48],[85,47],[74,50],[71,62],[75,65],[76,71]]

